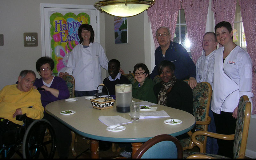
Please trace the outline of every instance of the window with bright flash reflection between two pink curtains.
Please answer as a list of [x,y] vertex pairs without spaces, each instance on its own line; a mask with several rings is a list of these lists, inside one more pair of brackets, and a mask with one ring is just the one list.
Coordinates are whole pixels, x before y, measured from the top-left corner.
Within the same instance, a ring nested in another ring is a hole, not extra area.
[[188,39],[184,9],[179,11],[173,42],[180,43],[188,52],[190,52],[190,41]]

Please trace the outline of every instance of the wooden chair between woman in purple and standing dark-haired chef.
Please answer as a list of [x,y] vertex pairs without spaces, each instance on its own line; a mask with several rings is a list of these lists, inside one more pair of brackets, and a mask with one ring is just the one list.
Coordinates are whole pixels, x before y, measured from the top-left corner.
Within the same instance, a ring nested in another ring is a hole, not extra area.
[[[63,79],[65,80],[68,86],[69,98],[75,98],[75,78],[71,75],[67,75],[67,76],[64,76]],[[74,148],[74,143],[77,142],[76,133],[71,131],[71,135],[72,135],[71,150],[72,150],[73,156],[76,156],[76,151]]]

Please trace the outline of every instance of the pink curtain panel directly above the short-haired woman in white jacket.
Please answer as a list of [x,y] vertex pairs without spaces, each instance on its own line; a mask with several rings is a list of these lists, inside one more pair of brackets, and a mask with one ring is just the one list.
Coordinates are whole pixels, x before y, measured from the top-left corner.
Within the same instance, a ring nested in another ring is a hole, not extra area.
[[236,0],[212,0],[212,11],[215,24],[227,21],[234,26]]

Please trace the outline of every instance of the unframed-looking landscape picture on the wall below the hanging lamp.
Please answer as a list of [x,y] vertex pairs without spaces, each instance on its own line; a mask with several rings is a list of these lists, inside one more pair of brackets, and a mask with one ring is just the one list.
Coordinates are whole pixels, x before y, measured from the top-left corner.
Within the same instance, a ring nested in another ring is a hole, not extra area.
[[128,43],[127,17],[115,17],[115,43]]

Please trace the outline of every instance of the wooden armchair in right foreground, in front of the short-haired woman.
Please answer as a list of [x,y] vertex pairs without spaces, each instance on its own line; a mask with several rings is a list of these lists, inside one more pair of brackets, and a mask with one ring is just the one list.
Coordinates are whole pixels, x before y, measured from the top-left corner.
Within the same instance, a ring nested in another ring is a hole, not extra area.
[[246,95],[243,95],[239,99],[237,119],[236,119],[236,131],[233,135],[222,135],[207,131],[196,131],[192,134],[192,141],[199,147],[200,152],[183,152],[183,158],[228,158],[225,156],[207,154],[204,153],[204,144],[196,139],[198,135],[209,136],[213,138],[219,138],[223,140],[234,140],[234,157],[244,158],[245,149],[247,143],[247,136],[249,131],[249,124],[251,118],[251,102]]

